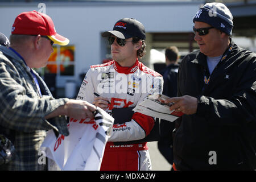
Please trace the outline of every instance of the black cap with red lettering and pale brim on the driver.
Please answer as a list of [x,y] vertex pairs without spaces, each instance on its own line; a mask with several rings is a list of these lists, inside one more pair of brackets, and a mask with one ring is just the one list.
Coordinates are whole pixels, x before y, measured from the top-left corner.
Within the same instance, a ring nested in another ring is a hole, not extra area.
[[123,18],[115,23],[113,30],[105,31],[101,34],[103,37],[111,35],[120,39],[129,39],[138,37],[142,40],[146,39],[145,28],[141,22],[133,18]]

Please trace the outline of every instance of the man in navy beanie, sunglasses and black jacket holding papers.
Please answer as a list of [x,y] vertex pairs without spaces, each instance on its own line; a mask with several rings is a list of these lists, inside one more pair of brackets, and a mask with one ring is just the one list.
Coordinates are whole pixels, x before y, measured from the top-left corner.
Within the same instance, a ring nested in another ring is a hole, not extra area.
[[255,170],[256,54],[232,38],[233,16],[206,3],[193,18],[200,50],[181,61],[174,130],[176,170]]

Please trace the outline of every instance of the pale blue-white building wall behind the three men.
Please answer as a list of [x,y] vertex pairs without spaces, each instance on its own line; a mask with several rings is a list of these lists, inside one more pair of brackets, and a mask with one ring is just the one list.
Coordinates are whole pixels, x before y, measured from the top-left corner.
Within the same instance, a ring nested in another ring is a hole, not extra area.
[[[47,3],[46,14],[51,16],[56,31],[66,36],[76,47],[75,80],[90,65],[102,62],[101,32],[112,30],[121,18],[135,18],[144,24],[146,32],[191,32],[192,18],[199,4],[164,3],[152,5],[89,5],[88,3]],[[38,11],[38,3],[0,3],[0,32],[11,34],[15,17],[23,11]],[[65,79],[57,78],[57,86]]]

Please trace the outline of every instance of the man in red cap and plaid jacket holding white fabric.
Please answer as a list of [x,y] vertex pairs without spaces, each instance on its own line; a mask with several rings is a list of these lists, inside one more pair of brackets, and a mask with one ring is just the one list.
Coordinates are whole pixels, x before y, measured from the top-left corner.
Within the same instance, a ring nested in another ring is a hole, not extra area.
[[45,170],[39,151],[46,130],[69,134],[65,115],[93,118],[95,106],[86,101],[54,99],[46,83],[32,68],[46,66],[52,44],[65,46],[52,19],[36,11],[19,14],[13,24],[10,47],[0,46],[0,133],[14,143],[16,155],[0,166],[5,170]]

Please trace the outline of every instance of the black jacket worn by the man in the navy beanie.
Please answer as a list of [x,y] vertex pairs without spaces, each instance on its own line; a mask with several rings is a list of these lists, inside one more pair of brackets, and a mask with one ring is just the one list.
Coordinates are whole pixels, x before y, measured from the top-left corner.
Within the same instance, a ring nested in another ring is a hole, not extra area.
[[[203,53],[189,53],[181,61],[177,95],[197,97],[199,104],[196,114],[184,114],[177,121],[177,169],[256,168],[252,141],[256,135],[256,54],[231,42],[223,57],[207,85],[204,76],[209,77],[209,71]],[[216,164],[212,164],[214,156]]]

